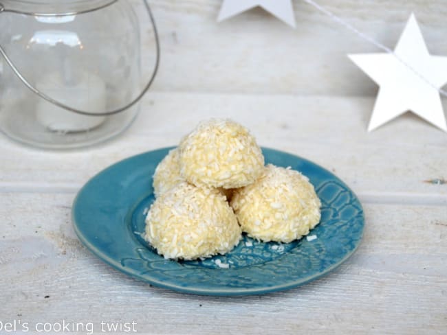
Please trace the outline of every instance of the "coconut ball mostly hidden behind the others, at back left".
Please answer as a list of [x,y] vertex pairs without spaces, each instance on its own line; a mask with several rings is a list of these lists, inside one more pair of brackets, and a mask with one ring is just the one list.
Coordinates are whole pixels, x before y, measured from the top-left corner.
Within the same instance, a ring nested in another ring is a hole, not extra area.
[[164,159],[157,165],[153,174],[153,193],[155,196],[173,188],[178,183],[185,181],[180,176],[180,155],[177,148],[169,151]]

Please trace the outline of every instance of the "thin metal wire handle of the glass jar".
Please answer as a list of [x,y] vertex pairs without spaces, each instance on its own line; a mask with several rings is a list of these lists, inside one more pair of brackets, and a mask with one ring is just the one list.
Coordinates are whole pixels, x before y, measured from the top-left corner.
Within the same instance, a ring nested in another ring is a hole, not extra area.
[[[98,8],[93,8],[93,9],[89,9],[89,10],[83,10],[83,11],[79,11],[79,12],[69,12],[69,13],[63,13],[63,14],[39,14],[39,13],[32,13],[32,12],[21,12],[19,10],[8,10],[7,8],[5,8],[3,6],[2,3],[0,3],[0,14],[2,12],[11,12],[11,13],[15,13],[15,14],[24,14],[24,15],[30,15],[30,16],[72,16],[72,15],[78,15],[78,14],[85,14],[87,12],[94,12],[95,10],[100,10],[102,8],[106,8],[109,5],[113,5],[113,3],[118,2],[118,0],[113,0],[109,3],[106,3],[105,5],[102,5]],[[5,49],[3,49],[3,47],[0,45],[0,54],[1,56],[3,56],[3,58],[5,58],[6,62],[8,63],[8,65],[10,66],[10,68],[12,69],[12,71],[14,72],[14,74],[19,78],[19,80],[21,80],[21,82],[23,82],[23,84],[25,84],[25,86],[28,87],[28,89],[30,89],[33,93],[35,93],[36,95],[39,95],[39,97],[43,98],[44,100],[47,100],[47,102],[50,102],[51,104],[54,104],[58,107],[61,107],[67,111],[73,112],[73,113],[77,113],[80,115],[88,115],[88,116],[108,116],[108,115],[114,115],[114,114],[118,114],[121,113],[122,111],[127,110],[128,108],[131,108],[131,106],[133,106],[134,104],[136,104],[137,102],[139,102],[141,100],[141,98],[143,97],[144,94],[146,94],[146,92],[149,90],[149,88],[151,87],[153,80],[155,80],[155,76],[157,74],[158,71],[158,67],[160,65],[160,39],[158,37],[158,31],[157,31],[157,25],[155,24],[155,19],[153,17],[152,11],[151,11],[151,7],[149,6],[149,3],[147,2],[147,0],[143,0],[144,5],[146,6],[146,10],[149,14],[149,18],[151,19],[151,23],[153,26],[153,33],[155,36],[155,67],[153,69],[153,73],[151,75],[151,78],[149,78],[149,82],[146,84],[146,86],[144,86],[144,89],[142,90],[142,92],[135,97],[134,100],[132,100],[131,102],[129,102],[129,104],[127,104],[126,106],[120,107],[118,109],[115,109],[113,111],[105,111],[103,113],[93,113],[93,112],[86,112],[86,111],[80,111],[79,109],[76,108],[72,108],[70,106],[67,106],[66,104],[63,104],[62,102],[59,102],[57,100],[54,100],[52,97],[49,97],[48,95],[46,95],[45,93],[39,91],[39,89],[36,89],[36,87],[34,87],[23,75],[22,73],[19,71],[19,69],[17,69],[17,67],[14,65],[14,62],[12,62],[12,60],[8,57],[8,54],[6,54]]]

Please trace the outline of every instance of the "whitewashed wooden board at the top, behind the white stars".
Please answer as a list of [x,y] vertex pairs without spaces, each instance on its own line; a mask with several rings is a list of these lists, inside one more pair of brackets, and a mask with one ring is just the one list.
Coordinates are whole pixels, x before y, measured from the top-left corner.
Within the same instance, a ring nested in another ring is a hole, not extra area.
[[[141,0],[132,0],[153,37]],[[347,54],[381,52],[304,1],[293,1],[296,29],[255,8],[217,23],[221,0],[152,0],[162,63],[155,89],[213,93],[375,95]],[[394,48],[414,12],[431,53],[447,56],[444,0],[317,0],[341,19]]]

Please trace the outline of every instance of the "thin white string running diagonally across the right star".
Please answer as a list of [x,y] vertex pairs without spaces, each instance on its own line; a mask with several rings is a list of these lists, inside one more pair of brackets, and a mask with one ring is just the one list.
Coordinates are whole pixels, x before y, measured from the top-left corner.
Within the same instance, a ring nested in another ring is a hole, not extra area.
[[354,27],[353,25],[351,25],[351,24],[347,23],[346,21],[342,20],[339,16],[336,16],[336,14],[334,14],[333,12],[330,12],[329,10],[324,8],[322,5],[319,5],[314,0],[303,0],[303,1],[305,3],[308,3],[309,5],[312,5],[314,8],[316,8],[317,10],[322,12],[323,14],[329,16],[333,21],[335,21],[336,23],[339,23],[340,25],[342,25],[345,28],[347,28],[347,30],[351,30],[351,32],[353,32],[354,34],[356,34],[357,36],[362,38],[364,41],[367,41],[367,42],[371,43],[372,45],[375,45],[375,47],[378,47],[379,49],[382,49],[386,53],[395,56],[395,58],[397,58],[397,60],[399,60],[404,66],[406,66],[408,69],[413,71],[413,73],[415,73],[415,75],[417,77],[419,77],[421,80],[426,82],[426,84],[428,84],[431,87],[433,87],[433,89],[438,91],[439,94],[443,95],[444,97],[447,97],[447,91],[444,91],[443,89],[439,89],[437,86],[435,86],[433,83],[431,83],[427,78],[422,76],[421,73],[419,73],[416,69],[414,69],[411,65],[409,65],[405,60],[400,58],[400,56],[398,56],[392,49],[390,49],[389,47],[386,47],[385,45],[383,45],[379,41],[376,41],[371,36],[368,36],[367,34],[364,34],[363,32],[360,32],[360,30],[358,30],[356,27]]

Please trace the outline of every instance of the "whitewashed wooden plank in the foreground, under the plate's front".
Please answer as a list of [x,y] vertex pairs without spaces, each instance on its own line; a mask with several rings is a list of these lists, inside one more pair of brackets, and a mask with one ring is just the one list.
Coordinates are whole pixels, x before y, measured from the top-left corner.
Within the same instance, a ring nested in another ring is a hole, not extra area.
[[367,205],[362,245],[333,273],[286,292],[214,298],[152,288],[102,264],[74,234],[73,198],[0,194],[1,319],[136,321],[139,334],[445,330],[446,207]]

